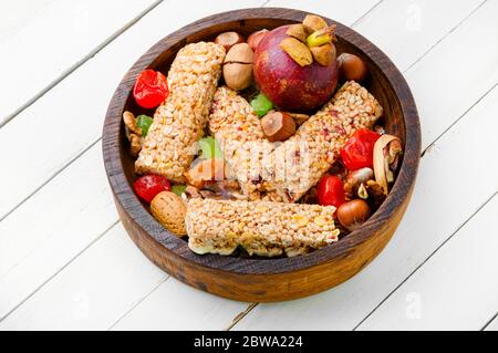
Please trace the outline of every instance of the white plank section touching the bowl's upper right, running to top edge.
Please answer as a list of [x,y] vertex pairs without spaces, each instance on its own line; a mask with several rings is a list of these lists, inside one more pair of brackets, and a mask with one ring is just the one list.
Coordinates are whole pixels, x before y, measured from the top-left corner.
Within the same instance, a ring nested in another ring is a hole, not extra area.
[[483,1],[384,0],[354,29],[405,71]]

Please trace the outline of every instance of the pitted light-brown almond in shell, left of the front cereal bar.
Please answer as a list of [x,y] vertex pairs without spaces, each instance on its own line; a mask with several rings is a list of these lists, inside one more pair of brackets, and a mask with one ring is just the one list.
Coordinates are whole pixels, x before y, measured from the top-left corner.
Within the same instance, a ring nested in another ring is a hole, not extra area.
[[185,216],[187,207],[184,201],[170,191],[156,195],[151,203],[151,211],[157,221],[176,236],[185,236]]

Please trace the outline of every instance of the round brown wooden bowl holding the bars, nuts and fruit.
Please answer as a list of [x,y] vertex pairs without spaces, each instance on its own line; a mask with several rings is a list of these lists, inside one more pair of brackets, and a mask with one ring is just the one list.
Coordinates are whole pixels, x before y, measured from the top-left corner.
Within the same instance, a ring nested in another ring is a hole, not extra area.
[[[142,251],[180,281],[204,291],[242,301],[281,301],[318,293],[334,287],[364,268],[385,247],[408,205],[421,155],[421,131],[412,93],[400,71],[374,44],[352,29],[336,23],[339,53],[355,53],[370,69],[364,85],[384,107],[388,133],[404,144],[403,163],[387,199],[357,230],[339,242],[294,258],[255,259],[199,256],[163,228],[133,191],[136,179],[122,114],[141,112],[131,94],[135,79],[147,68],[168,72],[176,52],[185,44],[212,40],[218,33],[248,35],[262,28],[300,22],[305,13],[267,8],[215,14],[194,22],[160,40],[126,73],[105,117],[103,152],[105,168],[121,220]],[[153,114],[153,112],[149,112]]]

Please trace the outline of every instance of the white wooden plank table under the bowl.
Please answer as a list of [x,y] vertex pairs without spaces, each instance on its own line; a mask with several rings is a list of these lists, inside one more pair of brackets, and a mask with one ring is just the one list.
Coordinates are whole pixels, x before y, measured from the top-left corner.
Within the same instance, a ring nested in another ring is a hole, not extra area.
[[[162,272],[120,224],[101,132],[127,69],[215,12],[292,7],[404,73],[423,158],[387,248],[350,281],[235,302]],[[0,2],[0,330],[498,330],[498,0]]]

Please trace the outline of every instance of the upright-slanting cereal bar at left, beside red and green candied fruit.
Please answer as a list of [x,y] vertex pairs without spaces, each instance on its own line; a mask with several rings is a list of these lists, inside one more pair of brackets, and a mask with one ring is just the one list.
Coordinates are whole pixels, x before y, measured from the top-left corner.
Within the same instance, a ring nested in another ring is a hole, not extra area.
[[135,163],[136,173],[185,181],[195,143],[207,124],[224,59],[224,46],[210,42],[187,44],[178,52],[168,72],[169,95],[156,110]]

